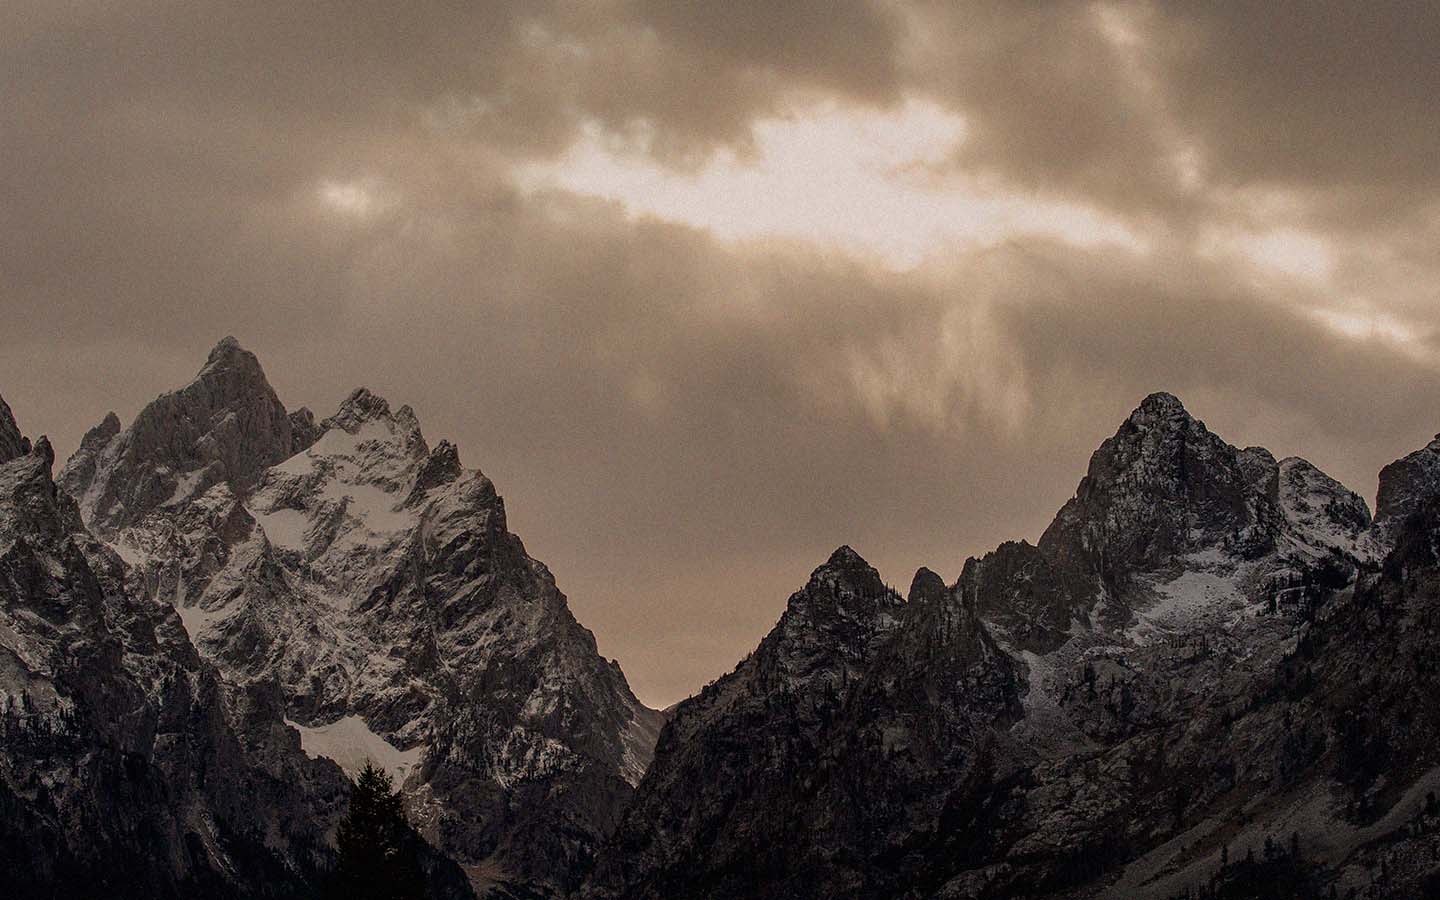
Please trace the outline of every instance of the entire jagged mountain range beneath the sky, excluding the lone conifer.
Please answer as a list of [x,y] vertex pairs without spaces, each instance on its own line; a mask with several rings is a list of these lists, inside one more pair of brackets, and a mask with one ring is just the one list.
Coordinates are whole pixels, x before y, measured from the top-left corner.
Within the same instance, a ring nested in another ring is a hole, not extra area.
[[310,893],[366,759],[436,896],[1440,896],[1440,438],[1372,516],[1151,395],[1037,543],[841,547],[664,713],[369,390],[226,338],[53,465],[0,402],[12,896]]

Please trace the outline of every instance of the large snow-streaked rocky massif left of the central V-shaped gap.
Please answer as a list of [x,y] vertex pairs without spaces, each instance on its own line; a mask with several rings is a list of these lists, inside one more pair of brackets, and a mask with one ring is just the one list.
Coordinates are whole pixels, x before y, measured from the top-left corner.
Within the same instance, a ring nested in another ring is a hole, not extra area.
[[287,413],[222,341],[196,382],[62,481],[236,690],[269,684],[315,756],[403,783],[481,890],[573,887],[649,763],[660,713],[570,615],[494,484],[359,389]]

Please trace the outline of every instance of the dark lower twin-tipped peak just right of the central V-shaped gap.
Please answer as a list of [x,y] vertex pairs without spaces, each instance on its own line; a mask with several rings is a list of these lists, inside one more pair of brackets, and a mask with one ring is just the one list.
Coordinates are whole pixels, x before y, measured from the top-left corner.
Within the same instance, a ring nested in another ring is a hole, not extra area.
[[923,884],[901,865],[965,815],[995,723],[1020,706],[978,618],[946,628],[966,619],[965,599],[927,569],[910,596],[852,549],[831,554],[753,654],[678,706],[580,896],[893,897]]

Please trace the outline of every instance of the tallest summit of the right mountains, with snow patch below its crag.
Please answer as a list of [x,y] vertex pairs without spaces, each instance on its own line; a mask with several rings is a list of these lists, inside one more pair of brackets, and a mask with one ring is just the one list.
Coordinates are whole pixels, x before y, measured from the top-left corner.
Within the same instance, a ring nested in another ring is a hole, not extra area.
[[966,563],[959,588],[1012,649],[1093,631],[1149,639],[1238,605],[1241,582],[1296,556],[1369,554],[1368,521],[1364,500],[1309,462],[1237,449],[1153,393],[1090,456],[1038,544]]

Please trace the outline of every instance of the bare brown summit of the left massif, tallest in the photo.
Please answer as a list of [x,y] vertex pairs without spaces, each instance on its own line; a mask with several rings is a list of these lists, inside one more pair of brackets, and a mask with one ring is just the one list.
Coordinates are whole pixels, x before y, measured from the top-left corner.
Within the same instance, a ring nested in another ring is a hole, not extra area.
[[215,346],[193,382],[118,426],[107,416],[60,474],[101,536],[216,484],[243,492],[294,449],[289,413],[233,337]]

